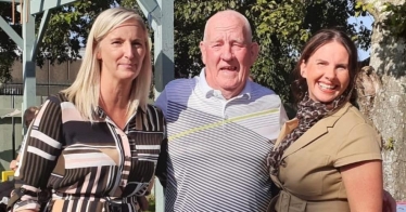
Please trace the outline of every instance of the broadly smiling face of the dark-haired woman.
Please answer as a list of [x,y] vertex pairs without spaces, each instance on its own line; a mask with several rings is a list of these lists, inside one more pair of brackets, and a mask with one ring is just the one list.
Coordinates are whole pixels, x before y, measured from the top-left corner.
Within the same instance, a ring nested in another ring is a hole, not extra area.
[[350,84],[348,57],[346,49],[332,41],[302,62],[301,75],[306,79],[312,100],[331,103],[346,90]]

